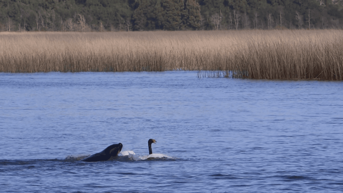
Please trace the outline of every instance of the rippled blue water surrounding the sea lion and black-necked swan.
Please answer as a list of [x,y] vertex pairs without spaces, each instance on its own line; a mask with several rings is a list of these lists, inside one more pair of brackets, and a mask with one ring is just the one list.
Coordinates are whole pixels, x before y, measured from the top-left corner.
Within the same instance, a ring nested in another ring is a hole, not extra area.
[[[0,73],[0,192],[342,192],[343,83]],[[122,143],[173,160],[81,162]]]

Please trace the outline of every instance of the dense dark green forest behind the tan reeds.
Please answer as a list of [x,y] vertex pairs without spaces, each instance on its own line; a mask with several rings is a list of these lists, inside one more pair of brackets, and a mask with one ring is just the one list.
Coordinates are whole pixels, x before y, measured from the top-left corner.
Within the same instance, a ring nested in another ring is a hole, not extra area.
[[343,28],[343,0],[0,0],[0,31]]

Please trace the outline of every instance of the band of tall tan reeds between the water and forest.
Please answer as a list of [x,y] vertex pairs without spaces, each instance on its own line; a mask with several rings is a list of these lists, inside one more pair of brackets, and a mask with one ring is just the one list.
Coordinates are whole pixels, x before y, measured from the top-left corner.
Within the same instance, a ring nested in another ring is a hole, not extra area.
[[0,72],[195,70],[198,77],[343,79],[343,31],[2,32]]

